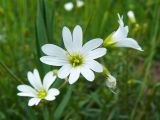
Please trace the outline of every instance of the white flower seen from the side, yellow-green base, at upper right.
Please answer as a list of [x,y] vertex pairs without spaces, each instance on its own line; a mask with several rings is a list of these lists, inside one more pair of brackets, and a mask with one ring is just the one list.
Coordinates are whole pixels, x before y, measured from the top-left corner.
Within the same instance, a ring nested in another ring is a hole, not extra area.
[[117,31],[113,32],[109,35],[105,41],[104,46],[112,46],[112,47],[130,47],[139,51],[143,51],[142,48],[138,45],[136,40],[133,38],[128,38],[128,26],[124,26],[123,16],[119,17],[119,28]]

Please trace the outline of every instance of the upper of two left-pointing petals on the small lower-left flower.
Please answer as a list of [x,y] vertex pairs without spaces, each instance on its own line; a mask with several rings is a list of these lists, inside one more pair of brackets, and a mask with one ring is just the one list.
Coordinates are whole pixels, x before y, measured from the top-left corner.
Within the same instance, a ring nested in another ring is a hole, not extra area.
[[36,94],[36,90],[29,85],[18,85],[17,89],[21,92]]

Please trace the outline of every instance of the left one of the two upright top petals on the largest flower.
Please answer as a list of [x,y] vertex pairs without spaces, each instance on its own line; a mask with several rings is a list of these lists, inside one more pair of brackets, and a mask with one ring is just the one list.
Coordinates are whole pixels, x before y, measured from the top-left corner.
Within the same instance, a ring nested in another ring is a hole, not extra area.
[[62,37],[63,37],[65,48],[67,49],[69,53],[71,53],[73,41],[72,41],[71,31],[67,27],[63,27]]

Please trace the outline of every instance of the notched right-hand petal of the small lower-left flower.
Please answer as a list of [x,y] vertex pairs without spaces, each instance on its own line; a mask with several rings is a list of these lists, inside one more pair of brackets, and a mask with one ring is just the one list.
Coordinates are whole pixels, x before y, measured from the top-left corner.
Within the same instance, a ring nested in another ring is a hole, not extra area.
[[46,100],[48,101],[52,101],[52,100],[55,100],[57,95],[59,95],[59,90],[56,89],[56,88],[52,88],[48,91],[48,94],[47,96],[45,97]]

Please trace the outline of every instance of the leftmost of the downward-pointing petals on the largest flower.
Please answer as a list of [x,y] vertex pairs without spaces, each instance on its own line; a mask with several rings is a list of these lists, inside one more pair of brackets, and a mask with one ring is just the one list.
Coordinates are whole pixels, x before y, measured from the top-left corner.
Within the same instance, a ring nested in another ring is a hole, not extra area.
[[58,71],[58,77],[61,79],[66,78],[71,72],[72,66],[70,64],[66,64],[62,66]]

